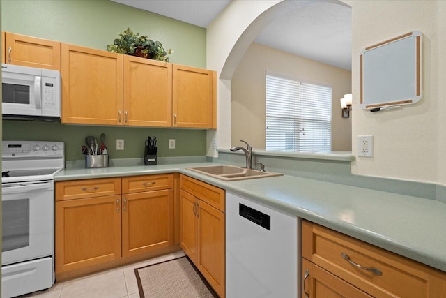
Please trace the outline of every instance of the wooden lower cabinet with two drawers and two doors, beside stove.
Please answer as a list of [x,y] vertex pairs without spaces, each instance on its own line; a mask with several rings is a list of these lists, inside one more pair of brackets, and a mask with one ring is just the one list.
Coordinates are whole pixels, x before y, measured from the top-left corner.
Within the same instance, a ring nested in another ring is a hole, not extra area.
[[173,185],[173,174],[56,182],[56,274],[174,246]]

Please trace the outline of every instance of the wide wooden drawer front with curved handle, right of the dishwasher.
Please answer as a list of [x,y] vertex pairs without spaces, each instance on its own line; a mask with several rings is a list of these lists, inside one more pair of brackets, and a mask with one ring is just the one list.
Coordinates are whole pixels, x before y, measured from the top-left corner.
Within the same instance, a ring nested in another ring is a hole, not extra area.
[[[341,253],[382,275],[351,264]],[[429,267],[307,221],[302,256],[374,297],[431,297]]]

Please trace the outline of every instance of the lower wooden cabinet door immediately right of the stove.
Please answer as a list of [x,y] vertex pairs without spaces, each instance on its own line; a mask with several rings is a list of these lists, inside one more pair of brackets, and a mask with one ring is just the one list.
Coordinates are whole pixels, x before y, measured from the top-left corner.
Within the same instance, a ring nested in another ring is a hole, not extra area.
[[121,196],[56,202],[56,273],[121,258]]

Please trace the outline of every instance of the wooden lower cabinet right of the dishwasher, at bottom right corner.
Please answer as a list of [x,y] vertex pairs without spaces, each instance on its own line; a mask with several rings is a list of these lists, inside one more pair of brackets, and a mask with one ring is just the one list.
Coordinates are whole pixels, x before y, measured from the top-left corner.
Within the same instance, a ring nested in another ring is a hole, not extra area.
[[302,257],[304,298],[445,297],[445,272],[309,221]]

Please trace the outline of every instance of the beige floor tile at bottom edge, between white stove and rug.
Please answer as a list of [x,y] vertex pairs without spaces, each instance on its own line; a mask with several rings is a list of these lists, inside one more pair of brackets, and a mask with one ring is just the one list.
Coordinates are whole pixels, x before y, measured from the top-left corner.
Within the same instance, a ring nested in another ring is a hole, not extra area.
[[123,268],[66,281],[61,298],[121,298],[127,295]]

